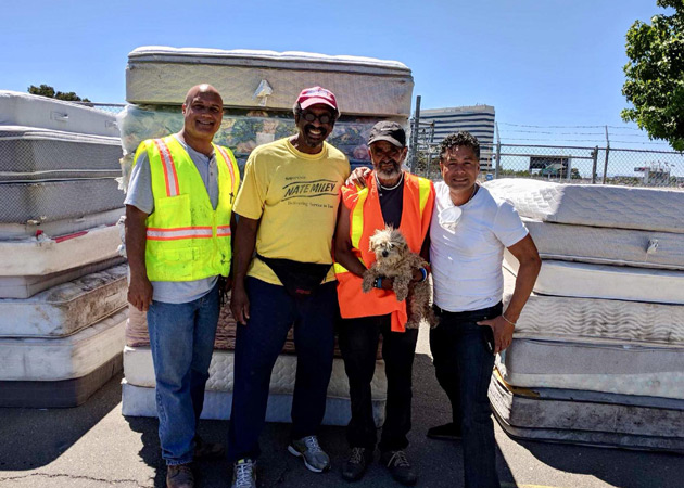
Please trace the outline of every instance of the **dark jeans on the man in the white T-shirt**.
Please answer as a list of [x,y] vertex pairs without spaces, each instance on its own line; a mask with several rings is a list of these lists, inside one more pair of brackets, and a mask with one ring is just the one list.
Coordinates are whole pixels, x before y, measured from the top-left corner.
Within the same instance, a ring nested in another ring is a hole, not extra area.
[[454,422],[461,427],[467,488],[499,488],[496,475],[494,423],[487,398],[494,355],[486,348],[484,328],[477,322],[502,313],[502,304],[482,310],[439,310],[430,331],[430,350],[440,385],[452,402]]

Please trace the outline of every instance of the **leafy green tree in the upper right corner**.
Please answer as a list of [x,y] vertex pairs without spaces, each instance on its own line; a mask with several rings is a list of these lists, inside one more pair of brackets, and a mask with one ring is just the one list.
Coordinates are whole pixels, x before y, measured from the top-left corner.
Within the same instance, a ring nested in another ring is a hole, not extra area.
[[626,33],[622,94],[633,107],[622,111],[622,119],[684,151],[684,1],[656,3],[674,13],[654,15],[650,25],[636,21]]

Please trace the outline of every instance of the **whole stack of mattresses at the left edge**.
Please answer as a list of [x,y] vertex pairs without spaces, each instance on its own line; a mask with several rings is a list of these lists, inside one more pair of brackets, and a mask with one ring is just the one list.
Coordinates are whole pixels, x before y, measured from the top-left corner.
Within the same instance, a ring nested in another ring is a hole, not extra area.
[[83,403],[121,369],[113,115],[0,91],[0,407]]

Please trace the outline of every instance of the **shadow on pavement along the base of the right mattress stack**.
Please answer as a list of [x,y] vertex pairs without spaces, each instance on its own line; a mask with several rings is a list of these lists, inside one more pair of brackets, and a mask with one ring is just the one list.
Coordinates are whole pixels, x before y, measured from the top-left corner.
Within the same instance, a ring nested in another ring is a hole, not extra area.
[[674,453],[631,451],[517,440],[544,464],[567,473],[591,475],[611,486],[681,488],[684,458]]

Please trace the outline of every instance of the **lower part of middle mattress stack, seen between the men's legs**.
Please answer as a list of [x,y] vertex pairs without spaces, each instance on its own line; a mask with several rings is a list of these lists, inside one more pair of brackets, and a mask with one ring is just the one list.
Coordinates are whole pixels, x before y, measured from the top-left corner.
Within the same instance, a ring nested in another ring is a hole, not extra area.
[[[230,419],[233,385],[233,350],[236,321],[228,307],[224,307],[218,320],[214,356],[210,365],[210,378],[204,395],[203,419]],[[270,377],[267,422],[291,422],[290,410],[294,391],[296,356],[292,331],[282,354],[278,357]],[[144,313],[130,307],[124,349],[123,413],[132,416],[156,416],[154,397],[154,368]],[[378,426],[384,420],[387,380],[384,363],[378,359],[371,384],[373,416]],[[351,418],[349,383],[344,363],[335,346],[332,376],[326,403],[326,425],[346,425]]]

